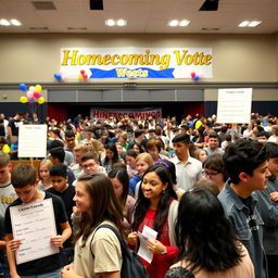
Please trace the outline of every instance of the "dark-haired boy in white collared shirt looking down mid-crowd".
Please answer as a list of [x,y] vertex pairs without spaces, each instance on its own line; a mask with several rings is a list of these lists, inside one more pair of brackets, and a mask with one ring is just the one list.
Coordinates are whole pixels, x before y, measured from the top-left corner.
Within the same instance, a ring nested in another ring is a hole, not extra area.
[[189,190],[200,179],[202,179],[202,163],[189,155],[191,144],[190,136],[179,134],[172,140],[176,156],[172,162],[176,166],[177,186],[184,190]]

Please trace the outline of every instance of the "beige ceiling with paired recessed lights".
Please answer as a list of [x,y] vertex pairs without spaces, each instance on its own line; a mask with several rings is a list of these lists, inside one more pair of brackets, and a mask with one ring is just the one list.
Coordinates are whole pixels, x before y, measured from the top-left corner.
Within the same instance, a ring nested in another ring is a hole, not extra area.
[[[103,0],[103,11],[89,10],[89,0],[43,0],[53,2],[56,10],[52,11],[36,10],[33,1],[0,0],[0,20],[16,18],[23,23],[20,27],[0,26],[0,33],[274,34],[278,31],[278,0],[219,0],[218,11],[213,12],[199,11],[204,0]],[[108,27],[105,26],[108,18],[124,18],[127,21],[127,26]],[[189,26],[167,26],[170,20],[184,18],[190,21]],[[244,20],[262,21],[262,24],[254,28],[238,27],[238,24]]]

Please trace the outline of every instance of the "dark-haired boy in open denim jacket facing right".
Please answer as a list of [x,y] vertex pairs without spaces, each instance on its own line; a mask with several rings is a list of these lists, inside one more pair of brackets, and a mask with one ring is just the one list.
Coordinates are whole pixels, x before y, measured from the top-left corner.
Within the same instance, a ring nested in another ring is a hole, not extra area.
[[258,213],[255,190],[266,189],[270,176],[266,150],[257,141],[239,140],[227,147],[224,164],[229,176],[218,199],[230,218],[238,239],[245,245],[253,262],[256,278],[266,278],[266,256],[263,248],[263,220]]

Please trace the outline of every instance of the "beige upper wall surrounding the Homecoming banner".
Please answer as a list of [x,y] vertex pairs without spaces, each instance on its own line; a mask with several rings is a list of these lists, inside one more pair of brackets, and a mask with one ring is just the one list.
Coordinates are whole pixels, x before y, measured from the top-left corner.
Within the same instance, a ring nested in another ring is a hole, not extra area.
[[[62,47],[204,47],[213,49],[213,78],[277,81],[277,35],[1,34],[1,83],[52,83]],[[76,81],[76,80],[72,80]],[[110,80],[108,80],[110,81]],[[117,80],[123,83],[123,80]],[[138,83],[157,80],[137,79]],[[161,80],[160,80],[161,81]],[[169,80],[166,80],[167,83]],[[177,80],[170,80],[176,83]],[[180,79],[179,79],[180,81]],[[181,81],[192,83],[191,79]],[[96,80],[94,80],[96,83]]]

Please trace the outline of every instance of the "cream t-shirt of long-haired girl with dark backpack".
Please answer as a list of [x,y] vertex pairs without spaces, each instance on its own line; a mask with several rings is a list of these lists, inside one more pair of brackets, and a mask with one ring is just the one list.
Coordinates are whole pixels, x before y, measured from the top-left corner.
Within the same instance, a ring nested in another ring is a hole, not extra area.
[[[111,222],[102,224],[116,228]],[[122,262],[121,244],[111,229],[100,228],[96,233],[93,230],[85,247],[81,238],[75,243],[74,270],[81,277],[97,278],[101,273],[121,271]]]

